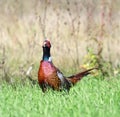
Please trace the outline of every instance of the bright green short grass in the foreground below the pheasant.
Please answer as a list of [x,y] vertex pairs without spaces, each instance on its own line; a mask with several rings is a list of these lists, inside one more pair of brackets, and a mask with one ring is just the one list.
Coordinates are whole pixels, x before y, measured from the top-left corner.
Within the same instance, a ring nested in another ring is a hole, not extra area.
[[0,86],[0,117],[119,117],[120,79],[86,77],[69,94],[38,85]]

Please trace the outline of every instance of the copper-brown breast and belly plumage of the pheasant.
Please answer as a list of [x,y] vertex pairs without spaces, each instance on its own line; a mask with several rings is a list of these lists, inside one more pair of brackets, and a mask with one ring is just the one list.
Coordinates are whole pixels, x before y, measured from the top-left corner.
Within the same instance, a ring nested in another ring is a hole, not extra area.
[[41,61],[38,72],[38,81],[43,91],[46,90],[47,86],[59,90],[60,79],[57,76],[57,69],[48,61]]

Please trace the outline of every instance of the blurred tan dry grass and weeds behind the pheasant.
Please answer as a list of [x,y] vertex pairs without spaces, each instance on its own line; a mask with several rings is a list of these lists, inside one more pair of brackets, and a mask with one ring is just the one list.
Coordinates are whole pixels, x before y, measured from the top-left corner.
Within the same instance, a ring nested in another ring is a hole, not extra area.
[[42,42],[66,75],[120,72],[120,0],[0,0],[0,82],[37,79]]

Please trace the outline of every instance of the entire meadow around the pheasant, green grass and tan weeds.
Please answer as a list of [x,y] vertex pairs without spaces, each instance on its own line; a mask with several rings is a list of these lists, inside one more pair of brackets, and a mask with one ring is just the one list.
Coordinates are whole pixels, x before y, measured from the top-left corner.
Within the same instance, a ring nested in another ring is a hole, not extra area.
[[[119,117],[120,0],[0,0],[0,117]],[[65,76],[96,67],[69,93],[42,93],[42,43]],[[99,61],[96,61],[96,57]]]

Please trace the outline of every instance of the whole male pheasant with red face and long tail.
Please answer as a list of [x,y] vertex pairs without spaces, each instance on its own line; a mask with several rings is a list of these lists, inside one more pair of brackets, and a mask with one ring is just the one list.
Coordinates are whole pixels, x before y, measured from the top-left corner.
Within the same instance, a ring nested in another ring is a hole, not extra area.
[[80,72],[78,74],[65,77],[63,73],[54,66],[50,54],[51,43],[49,40],[45,40],[42,45],[43,48],[43,58],[40,62],[40,67],[38,70],[38,83],[45,92],[48,87],[53,90],[66,90],[69,91],[70,88],[80,81],[84,76],[90,74],[90,71],[95,69],[88,69],[86,71]]

